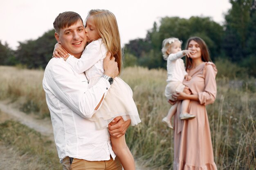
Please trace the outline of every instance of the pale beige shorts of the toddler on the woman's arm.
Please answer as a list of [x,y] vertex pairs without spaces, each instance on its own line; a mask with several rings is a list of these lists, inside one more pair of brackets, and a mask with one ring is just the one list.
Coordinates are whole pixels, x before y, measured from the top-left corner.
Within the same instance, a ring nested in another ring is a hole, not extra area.
[[176,82],[176,81],[169,82],[166,85],[164,95],[166,96],[167,99],[175,101],[175,99],[173,99],[173,94],[176,92],[182,92],[184,90],[184,87],[185,86],[184,84],[182,84],[182,82]]

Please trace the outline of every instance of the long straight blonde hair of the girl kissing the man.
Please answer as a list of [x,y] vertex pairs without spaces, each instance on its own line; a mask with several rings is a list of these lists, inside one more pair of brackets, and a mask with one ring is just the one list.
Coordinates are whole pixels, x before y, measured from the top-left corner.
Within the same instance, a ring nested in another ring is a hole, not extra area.
[[115,57],[120,74],[122,66],[122,49],[115,15],[105,9],[92,9],[89,11],[87,18],[89,16],[93,16],[93,22],[100,38],[102,38],[105,43],[107,50],[113,57]]

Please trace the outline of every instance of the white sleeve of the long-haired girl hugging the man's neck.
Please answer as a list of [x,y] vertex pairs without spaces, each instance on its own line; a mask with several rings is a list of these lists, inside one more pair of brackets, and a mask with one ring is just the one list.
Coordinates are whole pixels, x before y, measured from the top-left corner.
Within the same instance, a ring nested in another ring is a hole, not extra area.
[[102,41],[96,40],[86,46],[80,59],[70,55],[66,62],[72,66],[76,73],[80,74],[91,68],[99,60],[103,60],[106,57],[106,53],[106,46]]

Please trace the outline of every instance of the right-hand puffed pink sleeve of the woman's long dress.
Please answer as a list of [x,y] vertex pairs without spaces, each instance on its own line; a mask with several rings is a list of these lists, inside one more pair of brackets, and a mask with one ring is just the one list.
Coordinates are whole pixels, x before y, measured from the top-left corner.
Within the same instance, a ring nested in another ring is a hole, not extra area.
[[212,62],[206,62],[203,69],[204,91],[198,93],[199,102],[202,105],[212,104],[217,94],[216,66]]

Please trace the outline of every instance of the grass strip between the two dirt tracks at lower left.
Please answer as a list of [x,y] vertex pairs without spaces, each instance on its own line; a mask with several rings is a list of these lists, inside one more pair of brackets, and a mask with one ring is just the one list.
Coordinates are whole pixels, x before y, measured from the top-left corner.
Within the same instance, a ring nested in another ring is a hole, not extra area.
[[[17,170],[62,169],[56,149],[52,149],[56,147],[54,142],[25,125],[16,121],[0,123],[0,141],[9,148],[15,148],[17,156],[26,157],[15,168]],[[13,166],[10,165],[9,169],[13,169]]]

